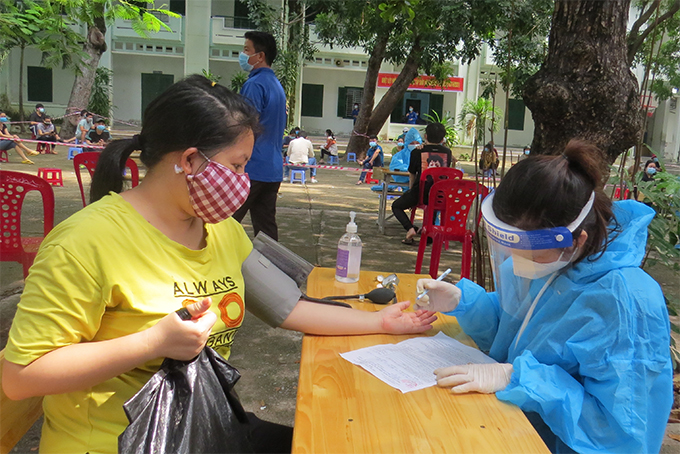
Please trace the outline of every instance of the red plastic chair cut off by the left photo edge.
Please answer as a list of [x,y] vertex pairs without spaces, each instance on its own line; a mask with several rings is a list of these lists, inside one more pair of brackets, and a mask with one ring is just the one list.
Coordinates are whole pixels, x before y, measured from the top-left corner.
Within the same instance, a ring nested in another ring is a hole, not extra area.
[[[21,236],[21,208],[26,194],[39,191],[43,202],[43,236]],[[24,279],[35,260],[40,243],[54,227],[54,192],[52,186],[35,175],[0,170],[0,256],[3,262],[19,262]]]

